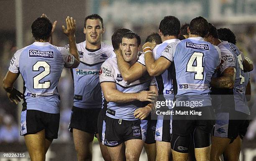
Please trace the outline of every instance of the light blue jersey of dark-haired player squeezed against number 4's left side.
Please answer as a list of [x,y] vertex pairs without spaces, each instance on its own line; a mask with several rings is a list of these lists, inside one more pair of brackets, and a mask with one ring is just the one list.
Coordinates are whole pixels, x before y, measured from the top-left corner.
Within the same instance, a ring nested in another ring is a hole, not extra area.
[[[163,52],[164,48],[170,44],[170,43],[177,43],[179,42],[179,39],[170,39],[170,40],[165,40],[163,43],[156,45],[156,47],[153,50],[153,56],[155,60],[160,58],[161,53]],[[145,66],[145,56],[142,54],[139,59],[138,63],[141,63],[142,65]],[[161,74],[161,77],[163,79],[163,84],[164,84],[164,98],[173,100],[174,99],[174,91],[173,91],[173,84],[172,84],[172,78],[168,70],[165,70],[164,73]]]

